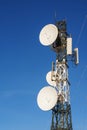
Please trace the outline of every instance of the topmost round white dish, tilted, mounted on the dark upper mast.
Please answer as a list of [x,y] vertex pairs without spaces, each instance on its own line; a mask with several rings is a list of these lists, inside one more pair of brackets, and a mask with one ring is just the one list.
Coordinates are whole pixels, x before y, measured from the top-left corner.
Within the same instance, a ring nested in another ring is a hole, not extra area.
[[39,35],[39,40],[42,45],[49,46],[54,43],[58,36],[58,29],[54,24],[45,25]]

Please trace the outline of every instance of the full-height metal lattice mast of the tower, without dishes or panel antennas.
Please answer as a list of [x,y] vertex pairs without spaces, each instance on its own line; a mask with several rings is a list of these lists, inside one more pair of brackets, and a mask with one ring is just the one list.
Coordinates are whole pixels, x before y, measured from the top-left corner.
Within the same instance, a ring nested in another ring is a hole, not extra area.
[[[58,91],[58,102],[52,110],[51,130],[72,130],[71,105],[70,105],[70,83],[68,80],[68,64],[66,54],[66,22],[58,22],[59,39],[52,45],[57,53],[55,67],[52,65],[52,80],[56,82]],[[55,70],[55,73],[54,73]]]

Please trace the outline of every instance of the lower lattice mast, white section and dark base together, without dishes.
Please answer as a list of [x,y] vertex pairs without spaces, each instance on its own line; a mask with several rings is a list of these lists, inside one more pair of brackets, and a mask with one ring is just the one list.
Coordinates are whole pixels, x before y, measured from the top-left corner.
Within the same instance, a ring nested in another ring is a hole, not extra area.
[[68,68],[66,63],[56,62],[55,76],[58,91],[58,102],[52,110],[51,130],[72,130],[71,105],[70,105],[70,83],[68,81]]

